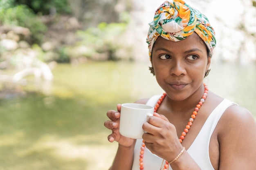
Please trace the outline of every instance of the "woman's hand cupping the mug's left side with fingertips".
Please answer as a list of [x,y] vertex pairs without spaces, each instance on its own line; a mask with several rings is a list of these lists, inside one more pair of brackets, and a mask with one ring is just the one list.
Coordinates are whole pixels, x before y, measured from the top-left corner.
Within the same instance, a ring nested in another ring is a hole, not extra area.
[[105,121],[104,126],[112,130],[112,134],[108,136],[108,141],[110,142],[117,141],[119,145],[129,147],[129,146],[132,146],[135,139],[130,139],[120,134],[119,132],[120,113],[121,113],[121,104],[117,104],[117,111],[108,110],[107,116],[110,120]]

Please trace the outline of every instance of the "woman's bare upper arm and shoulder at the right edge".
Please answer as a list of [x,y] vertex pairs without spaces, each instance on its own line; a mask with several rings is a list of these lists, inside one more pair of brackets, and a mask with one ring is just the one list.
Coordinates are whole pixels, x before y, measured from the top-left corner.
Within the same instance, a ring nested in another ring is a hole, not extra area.
[[240,106],[227,109],[220,120],[219,170],[254,170],[256,167],[256,122]]

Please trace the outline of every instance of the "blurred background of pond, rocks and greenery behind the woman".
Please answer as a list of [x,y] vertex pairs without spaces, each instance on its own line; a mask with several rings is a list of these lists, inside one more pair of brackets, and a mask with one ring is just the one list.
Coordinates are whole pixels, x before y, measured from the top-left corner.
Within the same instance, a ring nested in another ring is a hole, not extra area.
[[[163,93],[148,23],[163,0],[0,0],[0,170],[107,170],[106,112]],[[217,46],[209,89],[256,118],[256,1],[186,0]]]

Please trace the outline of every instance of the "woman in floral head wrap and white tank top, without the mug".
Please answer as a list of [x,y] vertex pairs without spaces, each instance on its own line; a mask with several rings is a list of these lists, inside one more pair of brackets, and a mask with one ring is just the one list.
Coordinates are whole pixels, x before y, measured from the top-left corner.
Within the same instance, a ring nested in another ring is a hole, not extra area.
[[143,139],[120,135],[120,104],[107,112],[108,140],[119,143],[110,170],[255,170],[251,113],[203,84],[216,45],[208,19],[182,0],[166,1],[147,42],[150,71],[166,93],[136,102],[155,106]]

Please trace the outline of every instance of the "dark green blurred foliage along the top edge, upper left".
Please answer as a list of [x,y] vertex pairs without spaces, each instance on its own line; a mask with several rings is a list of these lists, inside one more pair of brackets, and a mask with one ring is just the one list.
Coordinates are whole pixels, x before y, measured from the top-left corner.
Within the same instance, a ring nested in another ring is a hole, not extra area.
[[35,13],[48,15],[53,12],[71,14],[67,0],[15,0],[17,4],[25,4]]

